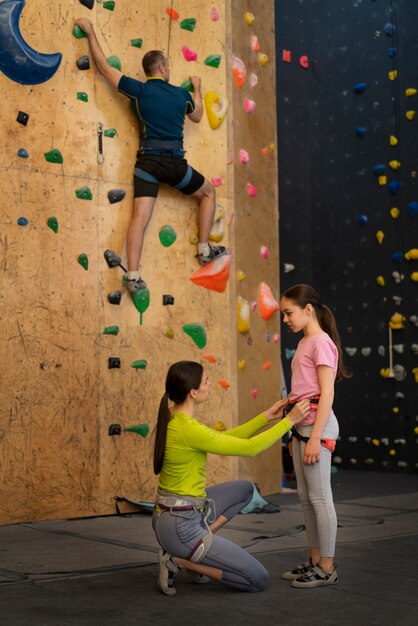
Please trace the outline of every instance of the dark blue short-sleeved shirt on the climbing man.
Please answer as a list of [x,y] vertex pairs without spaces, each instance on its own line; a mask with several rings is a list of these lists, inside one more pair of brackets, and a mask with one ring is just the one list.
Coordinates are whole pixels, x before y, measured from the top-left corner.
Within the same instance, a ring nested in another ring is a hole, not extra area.
[[145,83],[122,76],[118,90],[133,102],[139,117],[139,138],[179,140],[183,147],[184,119],[195,109],[187,89],[152,76]]

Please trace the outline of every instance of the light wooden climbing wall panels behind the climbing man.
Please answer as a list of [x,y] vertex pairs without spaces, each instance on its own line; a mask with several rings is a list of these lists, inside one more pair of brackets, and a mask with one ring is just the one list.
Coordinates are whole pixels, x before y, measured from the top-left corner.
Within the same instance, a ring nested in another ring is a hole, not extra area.
[[[0,523],[112,514],[115,496],[152,500],[152,431],[167,368],[176,360],[197,360],[208,370],[213,393],[199,416],[208,425],[221,420],[234,426],[278,396],[277,313],[269,322],[270,342],[256,308],[250,333],[238,333],[236,320],[238,295],[255,303],[261,281],[275,296],[278,290],[273,14],[255,2],[229,5],[179,0],[172,7],[180,15],[177,20],[166,12],[170,3],[160,0],[116,0],[113,10],[111,3],[96,2],[89,10],[78,2],[27,0],[23,9],[20,31],[27,45],[59,51],[62,62],[50,80],[32,86],[0,73],[7,103],[0,112]],[[251,26],[244,20],[246,11],[256,18]],[[143,79],[143,53],[158,48],[169,55],[171,82],[200,75],[204,92],[229,99],[227,117],[217,130],[206,115],[201,124],[186,122],[185,128],[187,158],[219,183],[222,244],[233,250],[229,286],[218,293],[189,280],[197,269],[190,243],[196,204],[163,188],[141,261],[150,286],[142,324],[122,287],[123,272],[110,269],[103,256],[111,249],[126,262],[137,122],[125,97],[93,68],[77,67],[76,61],[88,55],[86,40],[72,33],[77,17],[92,20],[106,56],[116,55],[126,74]],[[193,17],[193,31],[180,27]],[[251,35],[258,36],[268,55],[265,67],[251,49]],[[139,38],[142,49],[131,45]],[[197,52],[197,61],[185,60],[183,46]],[[217,68],[204,63],[212,54],[221,55]],[[233,83],[233,54],[258,75],[257,86],[247,83],[239,89]],[[244,111],[244,97],[257,102],[251,115]],[[16,121],[19,111],[29,114],[26,125]],[[101,164],[100,124],[107,131]],[[246,165],[239,161],[241,148],[250,156]],[[18,156],[19,149],[27,158]],[[60,152],[62,163],[45,158],[52,150]],[[256,196],[248,195],[247,182],[257,188]],[[126,192],[116,204],[108,198],[114,189]],[[57,232],[48,226],[52,217]],[[27,224],[20,225],[19,218]],[[164,225],[177,235],[170,247],[160,243]],[[262,244],[269,258],[260,254]],[[88,259],[87,269],[78,262],[81,254]],[[241,282],[238,271],[245,273]],[[108,301],[114,290],[122,291],[119,305]],[[162,305],[164,294],[174,297],[174,305]],[[203,349],[183,331],[189,323],[204,326]],[[117,335],[103,333],[110,326],[119,327]],[[120,368],[109,369],[112,357],[120,359]],[[242,371],[239,359],[246,361]],[[132,367],[138,360],[146,361],[145,369]],[[263,369],[267,361],[272,365]],[[223,388],[220,380],[230,387]],[[143,438],[122,431],[110,437],[109,426],[115,423],[122,428],[148,424],[150,434]],[[277,491],[279,444],[251,462],[213,457],[208,476],[209,483],[245,476],[264,493]]]

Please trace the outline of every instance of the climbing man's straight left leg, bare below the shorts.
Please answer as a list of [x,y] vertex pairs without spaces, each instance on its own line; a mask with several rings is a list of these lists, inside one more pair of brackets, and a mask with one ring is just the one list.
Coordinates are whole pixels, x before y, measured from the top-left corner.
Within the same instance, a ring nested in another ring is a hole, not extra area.
[[[145,230],[151,219],[156,198],[140,197],[134,199],[134,210],[126,236],[128,254],[128,289],[136,291],[141,282],[139,278],[139,263],[144,244]],[[133,282],[132,282],[133,281]],[[132,282],[131,285],[129,283]],[[142,281],[143,282],[143,281]],[[145,286],[145,284],[143,284]],[[131,289],[131,287],[133,287]]]

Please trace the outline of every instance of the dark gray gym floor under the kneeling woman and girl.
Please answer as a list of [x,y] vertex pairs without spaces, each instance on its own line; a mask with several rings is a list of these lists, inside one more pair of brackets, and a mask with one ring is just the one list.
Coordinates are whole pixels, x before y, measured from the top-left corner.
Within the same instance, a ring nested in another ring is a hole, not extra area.
[[175,597],[161,594],[147,513],[0,526],[0,626],[416,626],[418,476],[339,471],[332,481],[338,585],[295,589],[281,578],[306,557],[291,490],[267,496],[280,512],[238,515],[221,531],[267,567],[259,594],[184,572]]

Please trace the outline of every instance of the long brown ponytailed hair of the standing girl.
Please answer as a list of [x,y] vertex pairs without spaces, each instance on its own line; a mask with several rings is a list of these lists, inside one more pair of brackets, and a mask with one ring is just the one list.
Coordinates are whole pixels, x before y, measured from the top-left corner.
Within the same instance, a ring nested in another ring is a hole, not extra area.
[[289,287],[282,294],[282,298],[292,300],[301,309],[304,309],[307,304],[311,304],[315,309],[318,322],[323,331],[325,331],[335,343],[338,350],[338,366],[336,380],[342,378],[351,378],[352,374],[344,366],[343,353],[341,349],[341,339],[337,330],[337,322],[333,312],[326,304],[322,304],[321,297],[317,291],[310,285],[294,285]]

